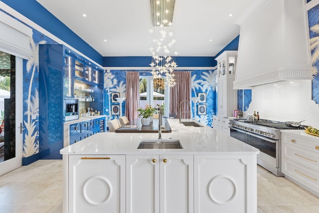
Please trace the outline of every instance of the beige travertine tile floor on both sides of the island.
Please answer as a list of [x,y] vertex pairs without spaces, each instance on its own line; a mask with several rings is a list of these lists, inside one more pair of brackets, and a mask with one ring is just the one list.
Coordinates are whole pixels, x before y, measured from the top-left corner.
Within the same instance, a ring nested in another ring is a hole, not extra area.
[[[319,198],[258,166],[258,213],[319,213]],[[40,160],[0,177],[0,213],[62,213],[62,161]]]

